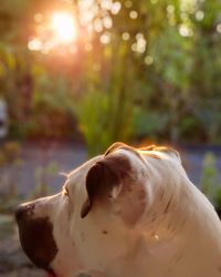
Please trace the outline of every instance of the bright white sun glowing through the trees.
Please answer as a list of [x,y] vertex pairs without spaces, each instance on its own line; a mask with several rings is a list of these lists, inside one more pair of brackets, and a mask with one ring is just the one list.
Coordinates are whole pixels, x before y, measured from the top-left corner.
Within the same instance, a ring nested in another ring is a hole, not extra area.
[[76,22],[72,13],[54,12],[51,27],[54,38],[60,43],[69,44],[76,39]]

